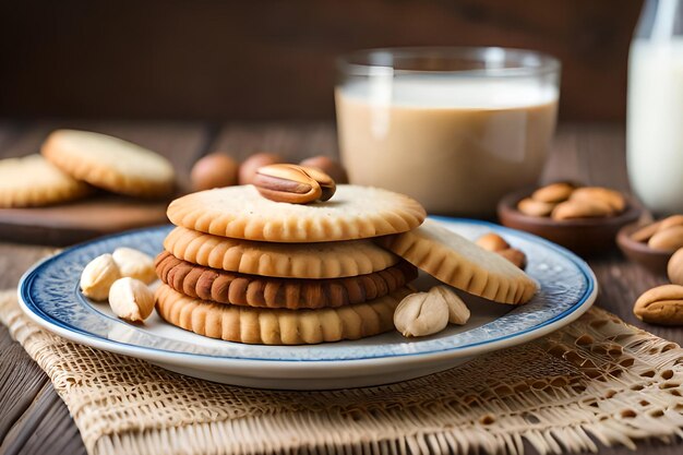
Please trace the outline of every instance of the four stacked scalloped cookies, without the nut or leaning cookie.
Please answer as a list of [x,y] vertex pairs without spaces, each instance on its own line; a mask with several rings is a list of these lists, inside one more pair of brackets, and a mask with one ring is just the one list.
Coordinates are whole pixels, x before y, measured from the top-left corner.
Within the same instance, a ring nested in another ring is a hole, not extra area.
[[417,268],[372,238],[426,214],[380,189],[339,185],[332,201],[302,205],[241,185],[180,197],[168,216],[177,227],[156,260],[160,316],[214,338],[297,345],[393,328]]

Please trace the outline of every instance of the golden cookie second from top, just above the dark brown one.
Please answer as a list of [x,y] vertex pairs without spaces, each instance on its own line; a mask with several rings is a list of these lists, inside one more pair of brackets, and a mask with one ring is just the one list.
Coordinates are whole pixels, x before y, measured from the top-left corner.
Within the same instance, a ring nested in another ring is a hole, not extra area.
[[399,258],[371,240],[271,243],[228,239],[178,227],[164,248],[192,264],[279,278],[342,278],[383,271]]

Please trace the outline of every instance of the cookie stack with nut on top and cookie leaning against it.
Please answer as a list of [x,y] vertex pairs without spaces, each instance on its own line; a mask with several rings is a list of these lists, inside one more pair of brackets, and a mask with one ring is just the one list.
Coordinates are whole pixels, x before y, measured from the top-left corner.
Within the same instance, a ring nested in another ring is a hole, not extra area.
[[391,331],[417,267],[502,303],[537,289],[510,261],[424,220],[415,200],[336,187],[320,169],[266,166],[253,185],[189,194],[167,214],[177,227],[156,260],[157,312],[213,338],[300,345]]

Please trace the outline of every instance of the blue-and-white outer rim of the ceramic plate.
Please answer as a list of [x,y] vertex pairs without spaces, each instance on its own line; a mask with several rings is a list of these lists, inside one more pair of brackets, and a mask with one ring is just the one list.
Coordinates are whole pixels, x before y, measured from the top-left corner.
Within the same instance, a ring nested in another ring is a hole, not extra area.
[[[560,328],[561,326],[568,324],[570,322],[576,320],[585,311],[590,308],[592,302],[595,301],[597,295],[597,285],[596,278],[590,270],[590,267],[580,259],[578,259],[574,253],[568,250],[556,246],[548,240],[541,239],[537,236],[522,232],[515,229],[510,229],[503,226],[499,226],[492,223],[482,221],[482,220],[472,220],[472,219],[464,219],[464,218],[451,218],[444,216],[432,216],[431,218],[446,223],[446,224],[464,224],[470,226],[483,226],[490,227],[491,229],[502,232],[508,234],[519,239],[525,239],[529,242],[540,244],[546,249],[550,249],[553,252],[560,254],[565,260],[568,260],[577,270],[580,272],[583,279],[585,280],[585,291],[582,297],[576,300],[574,304],[570,308],[565,309],[559,314],[555,314],[553,318],[549,318],[544,320],[542,323],[539,323],[535,326],[525,328],[523,331],[508,333],[502,336],[495,336],[490,339],[476,342],[471,344],[467,344],[464,346],[455,346],[455,347],[446,347],[441,349],[428,350],[428,351],[416,351],[416,352],[402,352],[402,354],[392,354],[392,355],[383,355],[383,356],[372,356],[372,357],[354,357],[350,359],[286,359],[286,358],[260,358],[260,357],[230,357],[230,356],[216,356],[216,355],[207,355],[207,354],[196,354],[196,352],[187,352],[187,351],[178,351],[178,350],[169,350],[169,349],[159,349],[148,346],[141,346],[136,344],[129,344],[120,340],[109,339],[107,337],[103,337],[97,334],[93,334],[80,327],[72,326],[53,315],[46,313],[40,308],[39,303],[37,303],[34,299],[34,295],[32,294],[32,285],[36,277],[39,276],[44,267],[48,266],[55,261],[59,261],[64,255],[88,248],[99,242],[116,240],[120,238],[125,238],[128,236],[135,236],[146,232],[156,232],[159,235],[168,231],[170,226],[157,226],[152,228],[143,228],[129,230],[125,232],[115,234],[111,236],[101,237],[95,240],[91,240],[84,243],[76,244],[71,247],[53,256],[47,258],[36,265],[34,265],[31,270],[28,270],[24,276],[20,280],[19,285],[19,301],[20,306],[24,310],[24,312],[36,323],[41,325],[43,327],[57,333],[68,339],[83,343],[86,345],[91,345],[93,347],[97,347],[104,350],[109,350],[118,354],[129,355],[133,357],[145,358],[148,360],[167,360],[178,363],[178,360],[182,359],[182,363],[187,364],[196,364],[196,366],[205,366],[206,362],[217,361],[219,363],[225,362],[240,362],[242,366],[264,366],[264,364],[280,364],[280,366],[292,366],[292,363],[315,363],[315,368],[329,368],[331,366],[337,366],[340,362],[346,364],[354,363],[358,366],[362,366],[363,362],[372,362],[372,363],[391,363],[393,361],[406,361],[409,360],[407,358],[410,357],[419,357],[420,359],[447,359],[454,357],[468,357],[478,355],[481,352],[513,346],[520,343],[526,343],[528,340],[538,338],[543,336],[554,330]],[[95,310],[91,309],[91,311],[95,312]],[[513,310],[514,311],[514,310]],[[512,313],[512,311],[511,311]],[[105,314],[99,313],[103,318],[109,318]],[[510,313],[508,313],[510,314]],[[111,318],[109,318],[111,319]],[[120,322],[116,319],[113,321]],[[122,323],[122,322],[121,322]],[[332,344],[334,345],[334,344]],[[316,345],[323,346],[323,345]],[[283,348],[283,347],[279,347]],[[404,359],[404,360],[402,360]],[[265,362],[265,363],[264,363]]]

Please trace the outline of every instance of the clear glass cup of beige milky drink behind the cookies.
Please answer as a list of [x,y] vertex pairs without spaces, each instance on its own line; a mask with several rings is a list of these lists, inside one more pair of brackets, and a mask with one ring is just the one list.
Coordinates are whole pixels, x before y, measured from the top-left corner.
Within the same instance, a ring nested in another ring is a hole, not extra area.
[[351,183],[430,213],[491,216],[537,183],[558,112],[560,63],[503,48],[394,48],[338,61],[342,159]]

